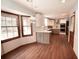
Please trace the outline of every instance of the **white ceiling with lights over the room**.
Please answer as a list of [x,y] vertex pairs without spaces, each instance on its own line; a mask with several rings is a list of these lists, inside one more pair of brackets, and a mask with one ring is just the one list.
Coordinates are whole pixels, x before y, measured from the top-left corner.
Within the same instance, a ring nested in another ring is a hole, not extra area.
[[29,7],[36,12],[43,13],[47,17],[55,18],[66,16],[74,8],[77,0],[13,0],[23,6]]

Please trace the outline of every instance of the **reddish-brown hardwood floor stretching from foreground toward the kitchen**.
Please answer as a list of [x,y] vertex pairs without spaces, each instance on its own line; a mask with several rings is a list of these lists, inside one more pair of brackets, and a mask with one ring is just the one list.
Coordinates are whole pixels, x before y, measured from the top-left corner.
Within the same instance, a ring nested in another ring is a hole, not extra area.
[[22,46],[2,56],[2,59],[77,59],[64,35],[52,35],[50,42]]

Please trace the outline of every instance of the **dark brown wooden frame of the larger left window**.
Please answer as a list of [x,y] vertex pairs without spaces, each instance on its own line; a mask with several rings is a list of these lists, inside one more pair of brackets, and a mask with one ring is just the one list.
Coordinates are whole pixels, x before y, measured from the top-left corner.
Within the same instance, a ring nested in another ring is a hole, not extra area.
[[11,41],[11,40],[15,40],[17,38],[20,38],[19,15],[18,14],[11,13],[11,12],[3,11],[3,10],[1,10],[1,13],[5,13],[5,14],[17,16],[16,22],[17,22],[17,30],[18,30],[18,36],[12,37],[12,38],[7,38],[5,40],[1,40],[1,43],[5,43],[5,42],[8,42],[8,41]]

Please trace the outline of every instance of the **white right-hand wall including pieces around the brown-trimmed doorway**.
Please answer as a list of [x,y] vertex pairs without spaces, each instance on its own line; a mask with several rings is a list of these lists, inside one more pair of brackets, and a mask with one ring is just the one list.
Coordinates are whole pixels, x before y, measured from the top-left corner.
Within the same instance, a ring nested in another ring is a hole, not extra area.
[[[74,52],[76,56],[78,57],[78,6],[77,4],[75,7],[72,9],[73,12],[75,11],[75,33],[74,33]],[[70,13],[70,16],[72,16],[73,13]],[[73,22],[71,22],[71,19],[69,20],[69,31],[73,31]]]

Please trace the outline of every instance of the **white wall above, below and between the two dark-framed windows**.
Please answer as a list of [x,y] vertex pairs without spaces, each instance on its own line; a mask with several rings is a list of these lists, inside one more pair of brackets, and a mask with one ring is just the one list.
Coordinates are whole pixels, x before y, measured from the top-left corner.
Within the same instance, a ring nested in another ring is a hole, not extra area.
[[[12,0],[2,0],[1,1],[1,9],[4,11],[8,11],[8,12],[13,12],[13,13],[17,13],[19,14],[29,14],[29,15],[34,15],[35,12],[33,10],[30,10],[22,5],[19,5],[15,2],[13,2]],[[16,12],[15,12],[16,11]],[[20,17],[19,17],[20,18]],[[21,25],[21,18],[20,18],[20,25]],[[33,29],[35,28],[35,25],[33,25]],[[21,33],[21,29],[20,29],[20,33]],[[12,40],[12,41],[8,41],[6,43],[2,43],[1,44],[1,55],[8,53],[9,51],[12,51],[13,49],[22,46],[24,44],[28,44],[28,43],[33,43],[36,42],[36,33],[35,30],[33,30],[33,35],[32,36],[28,36],[28,37],[22,37]]]

